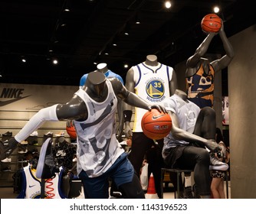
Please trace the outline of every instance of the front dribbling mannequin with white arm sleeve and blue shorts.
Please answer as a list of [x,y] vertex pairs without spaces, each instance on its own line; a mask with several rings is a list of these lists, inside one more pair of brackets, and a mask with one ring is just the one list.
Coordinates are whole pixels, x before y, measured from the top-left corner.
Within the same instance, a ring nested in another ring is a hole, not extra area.
[[108,198],[108,179],[111,177],[124,197],[144,198],[139,178],[117,141],[114,128],[117,96],[129,105],[166,112],[162,106],[148,103],[128,91],[119,79],[107,79],[103,73],[91,72],[84,86],[75,92],[69,102],[41,109],[18,135],[8,141],[8,147],[1,144],[1,157],[5,157],[6,151],[16,148],[18,142],[45,121],[74,120],[77,174],[84,185],[84,195],[87,198]]

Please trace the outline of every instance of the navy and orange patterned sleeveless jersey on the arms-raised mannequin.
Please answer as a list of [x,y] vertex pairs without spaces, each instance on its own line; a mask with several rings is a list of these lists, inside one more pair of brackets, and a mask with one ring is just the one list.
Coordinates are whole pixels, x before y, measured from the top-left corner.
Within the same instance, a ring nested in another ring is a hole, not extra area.
[[213,106],[214,76],[215,72],[211,65],[209,65],[209,73],[206,74],[201,64],[193,76],[186,78],[188,98],[199,105],[200,109]]

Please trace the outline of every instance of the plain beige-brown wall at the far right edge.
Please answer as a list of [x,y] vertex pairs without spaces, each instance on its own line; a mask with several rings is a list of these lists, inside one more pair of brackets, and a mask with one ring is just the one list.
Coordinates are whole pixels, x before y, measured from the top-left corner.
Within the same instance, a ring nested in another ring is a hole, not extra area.
[[228,66],[231,198],[256,198],[256,25],[230,37]]

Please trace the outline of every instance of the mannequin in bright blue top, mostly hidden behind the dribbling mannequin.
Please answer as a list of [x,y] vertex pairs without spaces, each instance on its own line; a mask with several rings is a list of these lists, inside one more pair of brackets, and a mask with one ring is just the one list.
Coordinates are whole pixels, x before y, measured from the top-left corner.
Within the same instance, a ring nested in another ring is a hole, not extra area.
[[[121,83],[123,83],[123,78],[120,75],[118,75],[117,73],[113,73],[111,70],[109,70],[107,67],[107,63],[97,64],[97,71],[100,73],[104,73],[104,75],[107,78],[116,77],[117,79],[120,80]],[[88,75],[88,73],[84,74],[84,76],[81,77],[80,87],[84,86],[84,83],[87,79],[87,75]],[[124,85],[124,83],[123,83],[123,85]],[[118,99],[117,114],[118,114],[118,118],[119,118],[119,125],[117,126],[117,139],[120,140],[122,137],[122,133],[123,133],[123,102],[118,97],[117,97],[117,99]]]

